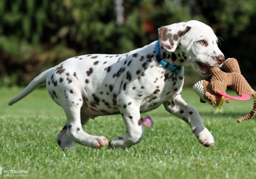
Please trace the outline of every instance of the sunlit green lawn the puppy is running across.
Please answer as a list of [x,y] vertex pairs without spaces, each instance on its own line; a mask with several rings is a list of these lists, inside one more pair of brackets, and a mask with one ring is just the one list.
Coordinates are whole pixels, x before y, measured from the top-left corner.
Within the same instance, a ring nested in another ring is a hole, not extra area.
[[[213,114],[212,107],[184,89],[182,97],[197,108],[215,137],[211,148],[202,146],[185,122],[160,106],[142,114],[152,116],[154,126],[145,127],[142,142],[130,149],[76,144],[75,151],[62,151],[55,141],[65,124],[62,108],[44,88],[8,106],[20,91],[0,88],[0,165],[3,170],[28,170],[29,177],[23,178],[256,178],[255,119],[236,123],[251,111],[253,100],[232,100],[223,114]],[[108,140],[125,132],[120,116],[97,117],[84,129]]]

